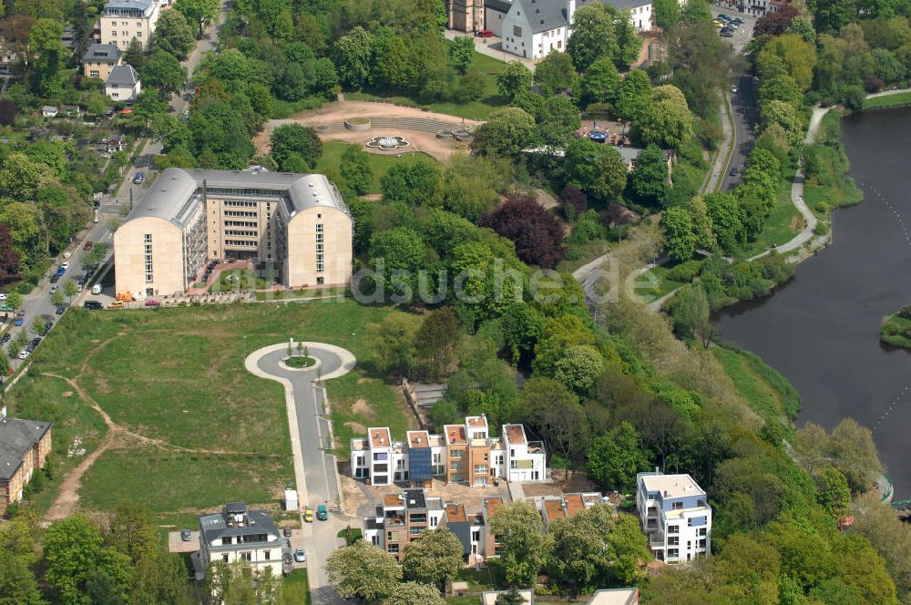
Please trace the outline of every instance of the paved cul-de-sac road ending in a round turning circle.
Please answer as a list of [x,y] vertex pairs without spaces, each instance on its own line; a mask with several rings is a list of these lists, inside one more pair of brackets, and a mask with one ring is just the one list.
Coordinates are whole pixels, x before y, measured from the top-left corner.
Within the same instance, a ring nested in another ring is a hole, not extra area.
[[[288,343],[271,344],[247,356],[244,365],[251,374],[274,380],[284,386],[285,408],[291,431],[294,478],[301,506],[333,507],[343,497],[339,488],[333,447],[333,427],[329,421],[329,402],[322,381],[338,378],[352,371],[354,355],[340,346],[325,343],[302,343],[307,354],[319,361],[318,367],[292,369],[281,367],[287,356]],[[297,344],[293,346],[297,351]],[[329,521],[302,523],[306,541],[307,576],[314,605],[341,602],[329,584],[323,563],[332,554],[336,534],[344,523],[335,515]]]

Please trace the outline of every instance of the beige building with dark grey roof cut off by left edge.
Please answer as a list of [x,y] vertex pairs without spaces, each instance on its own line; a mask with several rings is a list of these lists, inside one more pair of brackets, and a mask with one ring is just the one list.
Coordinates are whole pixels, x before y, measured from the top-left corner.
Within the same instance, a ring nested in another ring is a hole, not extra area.
[[52,423],[6,416],[0,408],[0,515],[22,499],[36,470],[51,453]]

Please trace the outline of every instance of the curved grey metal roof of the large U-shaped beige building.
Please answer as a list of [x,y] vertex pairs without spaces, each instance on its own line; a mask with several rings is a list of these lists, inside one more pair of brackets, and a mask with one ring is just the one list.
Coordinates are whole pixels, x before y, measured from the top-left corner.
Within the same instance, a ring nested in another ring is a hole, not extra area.
[[192,216],[195,204],[202,202],[198,194],[205,183],[207,189],[274,190],[286,195],[291,206],[288,214],[314,207],[334,208],[349,214],[342,195],[322,174],[270,172],[264,169],[214,170],[165,169],[139,202],[130,219],[156,217],[169,220],[180,228]]

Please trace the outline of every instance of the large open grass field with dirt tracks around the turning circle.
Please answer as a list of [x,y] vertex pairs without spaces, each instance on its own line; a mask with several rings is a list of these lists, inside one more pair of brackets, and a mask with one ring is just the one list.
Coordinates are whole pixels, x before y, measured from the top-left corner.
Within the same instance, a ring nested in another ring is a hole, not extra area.
[[[367,325],[387,313],[400,312],[346,299],[68,312],[6,397],[12,414],[55,423],[55,478],[36,506],[49,506],[66,471],[106,435],[92,402],[128,433],[82,478],[82,508],[106,510],[129,498],[159,522],[186,523],[233,499],[276,501],[293,480],[283,390],[247,372],[243,360],[289,336],[358,357],[352,373],[326,385],[345,454],[359,425],[381,422],[404,436],[404,401],[374,373],[365,338]],[[76,436],[86,452],[67,457]]]

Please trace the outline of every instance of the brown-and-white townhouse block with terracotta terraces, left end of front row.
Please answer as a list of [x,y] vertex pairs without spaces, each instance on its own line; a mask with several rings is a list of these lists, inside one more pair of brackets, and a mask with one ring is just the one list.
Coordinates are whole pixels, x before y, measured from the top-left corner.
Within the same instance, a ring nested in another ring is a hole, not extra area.
[[376,515],[363,519],[363,539],[402,559],[404,547],[427,529],[439,527],[444,515],[443,499],[427,497],[424,489],[386,494]]

